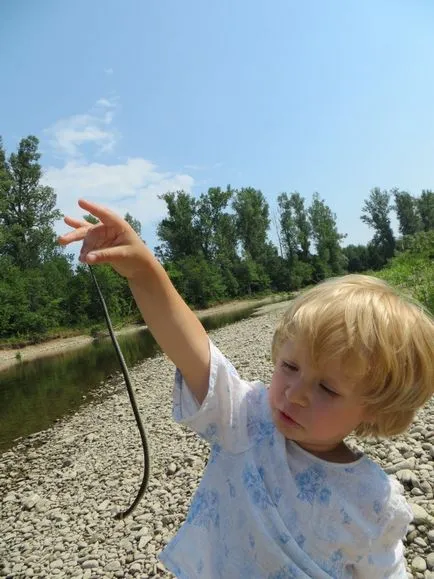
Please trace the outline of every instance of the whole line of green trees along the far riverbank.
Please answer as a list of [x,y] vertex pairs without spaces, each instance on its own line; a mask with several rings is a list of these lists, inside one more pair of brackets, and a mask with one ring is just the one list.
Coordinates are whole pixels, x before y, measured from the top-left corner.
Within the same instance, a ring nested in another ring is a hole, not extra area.
[[[29,136],[7,157],[0,140],[3,342],[90,328],[102,319],[87,266],[74,264],[73,256],[56,243],[54,223],[62,215],[56,209],[55,191],[41,183],[38,147],[38,139]],[[373,238],[367,245],[346,247],[336,215],[318,193],[308,201],[298,192],[281,192],[273,212],[263,193],[253,187],[212,187],[199,197],[185,191],[161,197],[167,215],[157,227],[156,254],[195,307],[298,290],[345,272],[378,271],[403,252],[414,255],[421,244],[423,259],[432,268],[431,190],[414,196],[398,189],[373,189],[360,216]],[[392,211],[399,224],[398,238],[391,227]],[[141,235],[139,217],[125,215]],[[270,240],[271,227],[277,245]],[[98,266],[96,275],[113,319],[137,319],[126,281],[108,266]]]

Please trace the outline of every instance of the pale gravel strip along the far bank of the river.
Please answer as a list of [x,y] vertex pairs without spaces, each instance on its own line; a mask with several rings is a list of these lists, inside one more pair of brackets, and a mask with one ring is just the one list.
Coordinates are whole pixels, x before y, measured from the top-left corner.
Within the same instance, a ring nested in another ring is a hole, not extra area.
[[[257,305],[258,307],[266,307],[268,304],[276,305],[282,302],[273,303],[275,300],[274,296],[269,296],[264,299],[256,300],[240,300],[227,302],[225,304],[220,304],[213,306],[206,310],[197,310],[196,314],[199,318],[204,318],[213,315],[229,314],[244,308],[249,308]],[[266,310],[265,310],[266,311]],[[125,326],[119,331],[116,331],[116,335],[124,335],[131,332],[138,332],[145,328],[144,324],[132,324]],[[88,346],[93,342],[94,338],[89,335],[79,335],[71,336],[69,338],[56,338],[54,340],[48,340],[46,342],[41,342],[39,344],[32,344],[25,346],[24,348],[0,348],[0,372],[6,370],[15,364],[24,361],[31,361],[44,356],[53,356],[56,354],[61,354],[62,352],[69,352],[71,350],[76,350]]]

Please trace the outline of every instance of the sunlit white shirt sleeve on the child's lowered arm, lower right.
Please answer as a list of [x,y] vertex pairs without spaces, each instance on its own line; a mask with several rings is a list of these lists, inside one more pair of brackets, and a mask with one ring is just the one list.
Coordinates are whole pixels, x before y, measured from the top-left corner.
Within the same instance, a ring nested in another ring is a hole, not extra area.
[[357,579],[407,579],[403,538],[413,514],[402,495],[402,487],[393,481],[381,534],[370,551],[355,565]]

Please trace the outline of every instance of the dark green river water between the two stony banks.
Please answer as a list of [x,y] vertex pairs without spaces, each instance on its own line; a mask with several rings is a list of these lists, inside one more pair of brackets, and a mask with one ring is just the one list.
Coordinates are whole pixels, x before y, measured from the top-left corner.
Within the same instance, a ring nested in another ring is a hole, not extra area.
[[[255,309],[209,316],[202,323],[207,330],[219,328],[249,317]],[[159,351],[145,329],[119,336],[118,340],[129,368]],[[93,400],[101,382],[119,370],[111,340],[103,339],[0,372],[0,451],[18,437],[44,430]]]

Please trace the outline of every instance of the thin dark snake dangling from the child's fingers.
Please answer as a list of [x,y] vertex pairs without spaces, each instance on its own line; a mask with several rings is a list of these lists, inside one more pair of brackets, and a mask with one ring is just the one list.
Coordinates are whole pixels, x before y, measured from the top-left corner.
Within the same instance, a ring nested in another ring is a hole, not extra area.
[[107,328],[108,328],[113,346],[116,350],[116,354],[117,354],[119,364],[120,364],[121,369],[122,369],[122,373],[124,375],[125,385],[127,387],[128,396],[130,398],[131,406],[132,406],[132,409],[134,412],[134,417],[136,419],[137,428],[139,429],[139,432],[140,432],[140,438],[141,438],[142,447],[143,447],[143,459],[144,459],[143,478],[142,478],[140,488],[137,492],[137,496],[134,499],[134,501],[131,503],[130,507],[128,507],[125,511],[119,512],[115,515],[115,519],[123,520],[125,517],[128,517],[128,515],[131,515],[131,513],[136,509],[137,505],[139,504],[141,498],[143,497],[143,495],[146,491],[146,488],[147,488],[148,482],[149,482],[149,474],[150,474],[150,470],[151,470],[151,468],[150,468],[151,467],[151,459],[150,459],[150,455],[149,455],[149,446],[148,446],[148,440],[146,438],[145,427],[143,426],[140,412],[139,412],[139,409],[137,408],[136,398],[134,396],[133,387],[131,385],[131,380],[130,380],[130,375],[128,373],[128,368],[127,368],[127,365],[125,363],[125,359],[124,359],[124,356],[122,354],[119,343],[118,343],[116,336],[113,332],[113,326],[112,326],[112,323],[110,320],[110,315],[108,313],[107,306],[106,306],[106,303],[104,301],[104,297],[101,293],[98,282],[96,281],[96,277],[95,277],[95,274],[93,272],[91,265],[89,265],[89,270],[90,270],[92,279],[94,281],[96,291],[98,293],[98,296],[99,296],[99,299],[101,302],[101,306],[102,306],[102,309],[104,311],[104,317],[105,317],[105,321],[107,323]]

